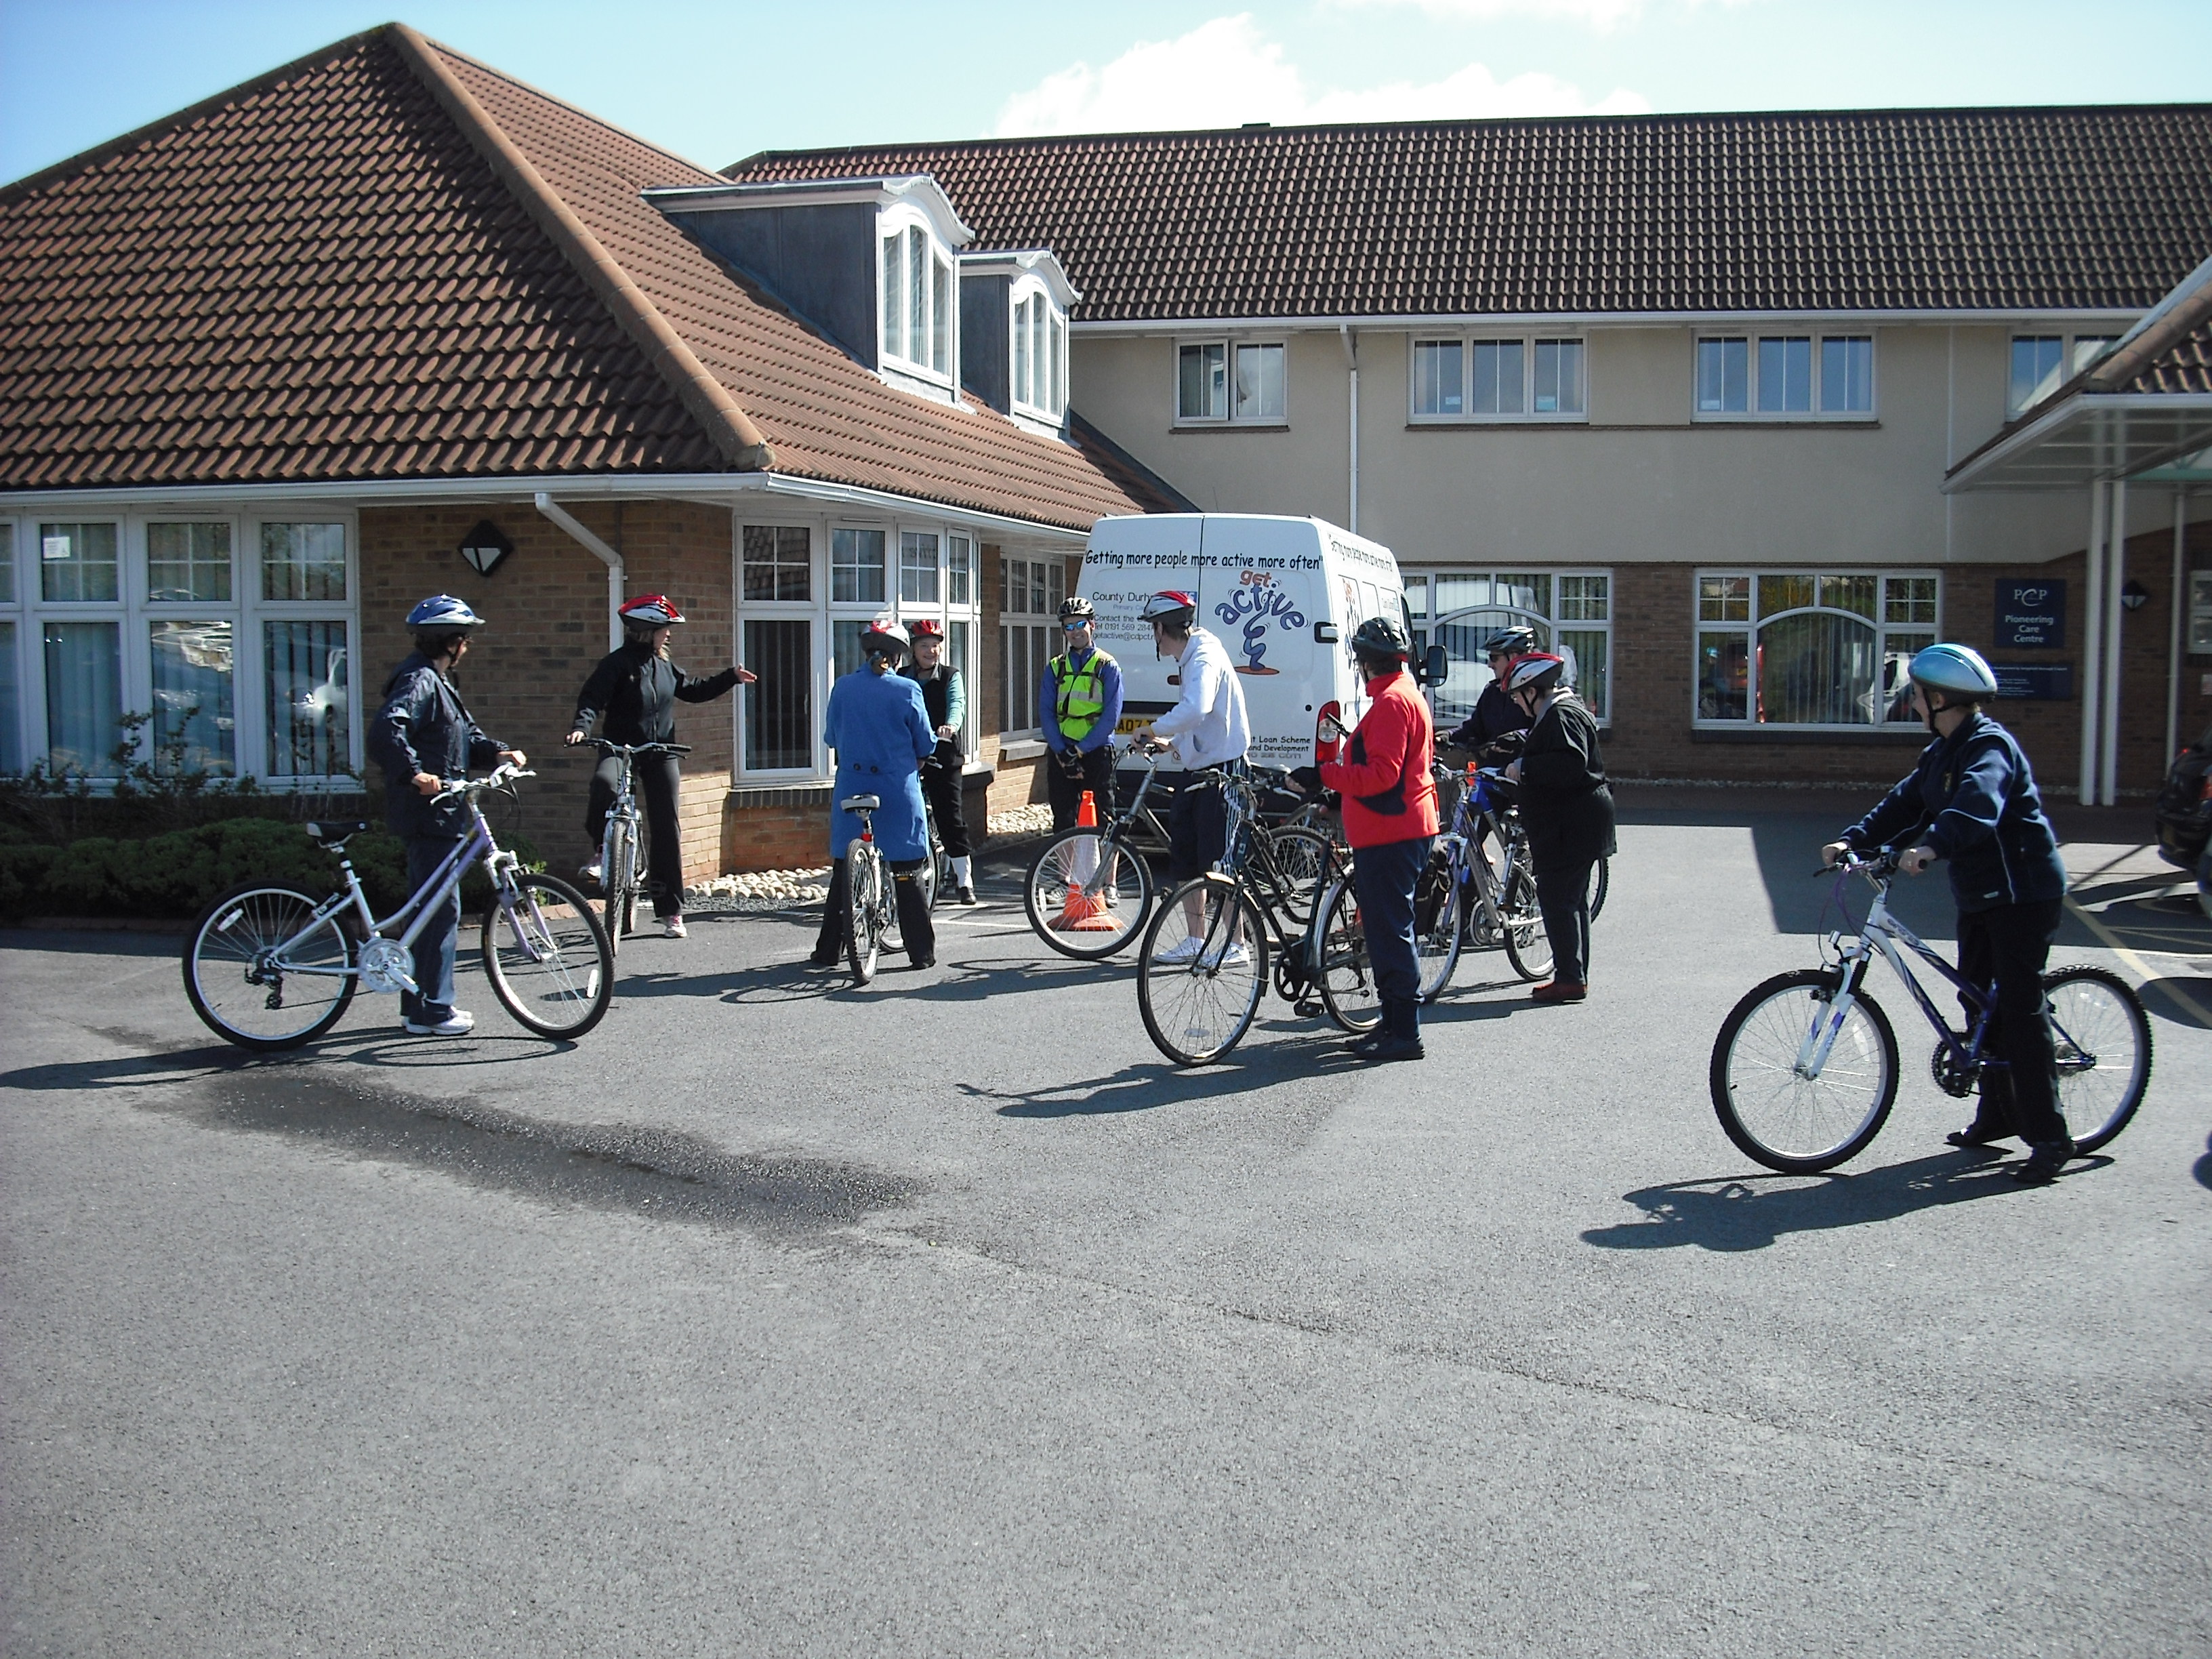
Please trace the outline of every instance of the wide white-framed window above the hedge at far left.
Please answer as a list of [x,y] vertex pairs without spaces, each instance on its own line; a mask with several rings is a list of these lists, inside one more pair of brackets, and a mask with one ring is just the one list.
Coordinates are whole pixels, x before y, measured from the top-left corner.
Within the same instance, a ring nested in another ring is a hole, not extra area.
[[349,544],[341,522],[0,522],[0,770],[113,779],[142,717],[135,759],[161,770],[356,774]]

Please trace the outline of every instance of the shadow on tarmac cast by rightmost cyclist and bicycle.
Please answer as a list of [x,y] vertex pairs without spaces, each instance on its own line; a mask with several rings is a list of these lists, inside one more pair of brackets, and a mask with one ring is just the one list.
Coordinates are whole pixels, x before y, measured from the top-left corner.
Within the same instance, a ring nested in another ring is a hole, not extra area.
[[[2059,1179],[2075,1179],[2112,1159],[2070,1164]],[[1812,1181],[1812,1186],[1803,1186]],[[1601,1250],[1765,1250],[1790,1232],[1858,1228],[1896,1221],[1940,1203],[1964,1203],[2000,1192],[2028,1192],[1993,1152],[1942,1152],[1891,1164],[1863,1175],[1752,1175],[1670,1181],[1624,1192],[1648,1221],[1588,1228],[1582,1239]]]

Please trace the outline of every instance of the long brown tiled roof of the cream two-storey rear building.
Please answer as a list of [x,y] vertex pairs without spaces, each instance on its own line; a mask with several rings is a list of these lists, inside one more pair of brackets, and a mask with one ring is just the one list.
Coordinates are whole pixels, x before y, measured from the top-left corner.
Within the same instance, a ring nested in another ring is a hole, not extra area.
[[770,150],[929,173],[1082,321],[2141,307],[2212,248],[2212,104],[1637,115]]

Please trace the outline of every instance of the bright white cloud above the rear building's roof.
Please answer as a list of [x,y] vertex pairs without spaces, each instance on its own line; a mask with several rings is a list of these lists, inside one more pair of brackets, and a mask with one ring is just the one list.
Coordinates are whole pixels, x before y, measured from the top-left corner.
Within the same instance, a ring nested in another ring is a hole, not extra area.
[[[1484,2],[1484,0],[1478,0]],[[1610,0],[1593,0],[1597,4]],[[1310,88],[1281,42],[1250,13],[1214,18],[1177,40],[1146,40],[1104,69],[1071,64],[998,113],[998,137],[1040,133],[1146,133],[1274,122],[1427,122],[1478,115],[1635,115],[1650,104],[1626,88],[1590,100],[1555,75],[1498,80],[1467,64],[1433,82]]]

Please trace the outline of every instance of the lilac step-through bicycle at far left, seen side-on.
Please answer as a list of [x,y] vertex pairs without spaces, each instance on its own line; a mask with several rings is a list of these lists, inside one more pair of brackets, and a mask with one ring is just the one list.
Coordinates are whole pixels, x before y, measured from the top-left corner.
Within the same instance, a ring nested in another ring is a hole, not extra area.
[[[367,823],[310,823],[319,847],[336,854],[345,885],[312,898],[274,883],[241,883],[210,902],[184,942],[184,993],[215,1035],[239,1048],[296,1048],[345,1015],[354,991],[416,995],[414,942],[434,909],[460,887],[473,863],[491,876],[480,920],[484,978],[504,1009],[540,1037],[582,1037],[615,991],[615,947],[568,883],[500,852],[478,805],[487,790],[538,776],[511,763],[453,783],[434,801],[465,799],[469,834],[429,878],[383,920],[345,856]],[[403,929],[394,936],[394,929]]]

